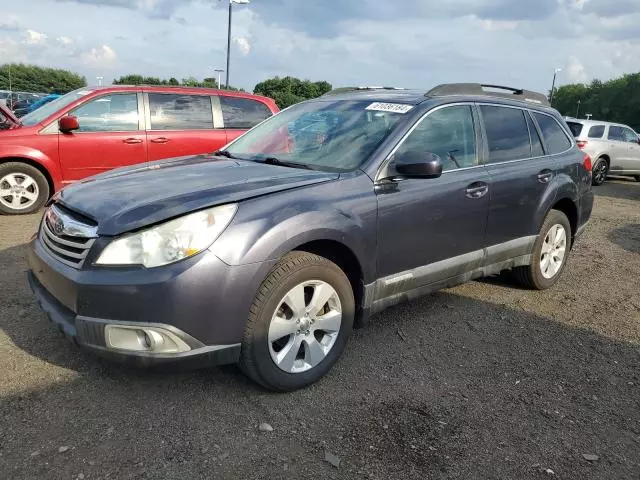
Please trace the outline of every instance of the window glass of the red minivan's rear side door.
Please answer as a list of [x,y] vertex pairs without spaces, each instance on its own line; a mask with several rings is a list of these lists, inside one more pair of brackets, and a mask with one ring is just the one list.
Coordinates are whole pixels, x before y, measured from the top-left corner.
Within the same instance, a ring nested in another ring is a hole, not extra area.
[[207,130],[213,128],[211,97],[149,93],[151,130]]

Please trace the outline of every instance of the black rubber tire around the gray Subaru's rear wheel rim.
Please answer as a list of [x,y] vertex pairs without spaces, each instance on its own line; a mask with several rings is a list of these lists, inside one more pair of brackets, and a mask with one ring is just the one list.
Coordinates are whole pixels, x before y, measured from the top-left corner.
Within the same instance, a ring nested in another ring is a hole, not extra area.
[[[546,278],[542,274],[542,268],[540,266],[540,260],[542,258],[542,246],[544,244],[547,233],[549,232],[549,230],[551,230],[551,227],[555,225],[562,225],[562,227],[564,227],[565,229],[565,254],[563,263],[558,272],[553,277]],[[567,266],[567,260],[569,257],[569,252],[571,250],[571,239],[571,224],[569,223],[569,219],[567,218],[567,216],[558,210],[551,210],[542,223],[538,239],[533,245],[531,265],[514,268],[513,274],[515,279],[522,285],[535,290],[546,290],[553,287],[557,283],[558,279],[562,275],[562,272]]]

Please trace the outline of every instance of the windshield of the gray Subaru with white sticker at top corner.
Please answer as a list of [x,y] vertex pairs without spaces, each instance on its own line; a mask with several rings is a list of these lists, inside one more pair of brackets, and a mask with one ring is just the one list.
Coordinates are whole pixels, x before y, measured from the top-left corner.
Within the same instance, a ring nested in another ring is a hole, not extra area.
[[360,166],[411,105],[317,100],[294,105],[233,142],[228,155],[317,170]]

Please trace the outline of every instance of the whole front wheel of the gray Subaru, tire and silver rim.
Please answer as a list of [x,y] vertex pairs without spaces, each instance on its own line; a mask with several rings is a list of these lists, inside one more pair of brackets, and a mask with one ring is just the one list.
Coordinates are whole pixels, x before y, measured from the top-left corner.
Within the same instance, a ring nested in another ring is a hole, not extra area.
[[271,270],[251,305],[240,368],[270,390],[306,387],[337,362],[354,317],[344,272],[326,258],[291,252]]

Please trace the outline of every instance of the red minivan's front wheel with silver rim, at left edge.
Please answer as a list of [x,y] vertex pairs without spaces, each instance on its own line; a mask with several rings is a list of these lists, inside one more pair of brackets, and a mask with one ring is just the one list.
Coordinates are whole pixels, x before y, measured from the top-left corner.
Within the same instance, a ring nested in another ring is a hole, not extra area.
[[40,170],[21,162],[0,164],[0,213],[33,213],[48,199],[49,183]]

